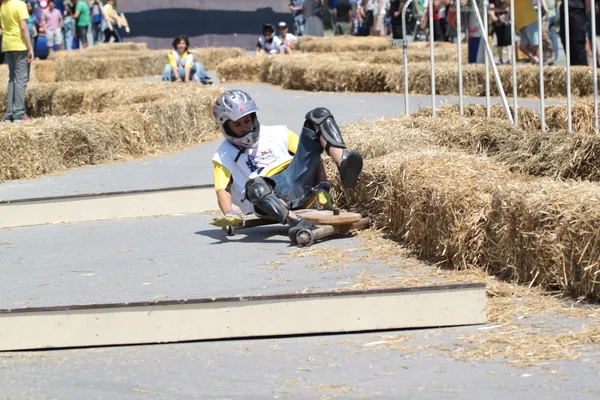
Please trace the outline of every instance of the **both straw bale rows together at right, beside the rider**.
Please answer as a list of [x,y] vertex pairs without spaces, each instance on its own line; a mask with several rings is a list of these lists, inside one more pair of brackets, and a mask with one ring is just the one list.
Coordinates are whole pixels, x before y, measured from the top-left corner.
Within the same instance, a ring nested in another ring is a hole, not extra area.
[[343,130],[366,161],[356,189],[334,183],[341,206],[370,213],[378,228],[440,265],[600,298],[595,136],[467,117]]

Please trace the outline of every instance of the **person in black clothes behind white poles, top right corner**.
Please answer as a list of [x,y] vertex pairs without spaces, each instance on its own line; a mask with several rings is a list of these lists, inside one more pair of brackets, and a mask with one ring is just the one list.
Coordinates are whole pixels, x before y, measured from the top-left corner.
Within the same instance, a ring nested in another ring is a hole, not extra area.
[[[516,10],[515,10],[516,11]],[[560,4],[561,20],[565,20],[565,2]],[[588,65],[586,44],[585,0],[569,0],[569,51],[571,53],[571,65]],[[560,29],[560,41],[566,48],[566,30]]]

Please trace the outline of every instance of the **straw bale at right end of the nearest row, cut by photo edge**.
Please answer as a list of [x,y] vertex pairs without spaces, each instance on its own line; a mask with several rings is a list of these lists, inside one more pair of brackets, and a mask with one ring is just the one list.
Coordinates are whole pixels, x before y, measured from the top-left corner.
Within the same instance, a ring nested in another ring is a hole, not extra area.
[[485,227],[487,270],[597,300],[599,193],[597,184],[551,180],[498,187]]

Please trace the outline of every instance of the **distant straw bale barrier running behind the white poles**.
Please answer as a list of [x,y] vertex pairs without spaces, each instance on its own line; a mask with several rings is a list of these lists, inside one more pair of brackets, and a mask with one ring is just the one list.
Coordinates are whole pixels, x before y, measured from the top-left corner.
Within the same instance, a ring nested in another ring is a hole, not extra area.
[[[409,92],[431,93],[429,44],[411,43],[408,47]],[[390,41],[376,37],[307,38],[300,44],[302,54],[285,57],[246,56],[229,59],[217,67],[223,82],[254,81],[281,85],[287,89],[310,91],[404,92],[403,55],[391,49]],[[463,46],[463,62],[467,61],[467,46]],[[274,60],[272,60],[274,59]],[[457,48],[451,43],[435,46],[436,93],[458,95]],[[282,73],[274,76],[274,66]],[[505,93],[512,93],[512,68],[498,67]],[[491,68],[490,68],[491,72]],[[283,74],[283,75],[282,75]],[[285,77],[285,75],[292,75]],[[571,93],[576,97],[593,95],[593,77],[588,67],[571,68]],[[318,80],[313,79],[318,76]],[[282,79],[283,77],[283,79]],[[287,83],[287,86],[286,86]],[[490,94],[498,90],[490,74]],[[539,98],[539,69],[520,66],[517,70],[519,97]],[[565,97],[566,72],[562,67],[544,68],[545,97]],[[463,66],[463,93],[485,95],[485,66]]]

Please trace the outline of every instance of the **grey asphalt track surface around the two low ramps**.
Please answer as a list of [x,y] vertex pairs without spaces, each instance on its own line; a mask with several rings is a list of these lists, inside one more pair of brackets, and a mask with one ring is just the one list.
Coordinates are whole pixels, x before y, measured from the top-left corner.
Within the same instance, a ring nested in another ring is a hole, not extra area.
[[[319,105],[330,107],[341,123],[398,115],[402,107],[395,95],[236,86],[256,98],[263,124],[299,128],[304,113]],[[207,183],[214,148],[205,144],[169,157],[6,183],[0,185],[0,197]],[[329,268],[317,258],[290,255],[284,228],[263,227],[227,239],[208,225],[210,218],[188,215],[2,230],[0,307],[330,289],[352,285],[365,268],[386,276],[403,271],[403,263],[415,263],[400,259],[390,267],[357,261]],[[341,238],[317,248],[336,254],[361,243],[360,238]],[[598,354],[551,361],[544,368],[515,368],[502,359],[454,361],[440,350],[478,329],[0,353],[0,398],[598,398]],[[388,335],[400,344],[367,345],[388,340]]]

